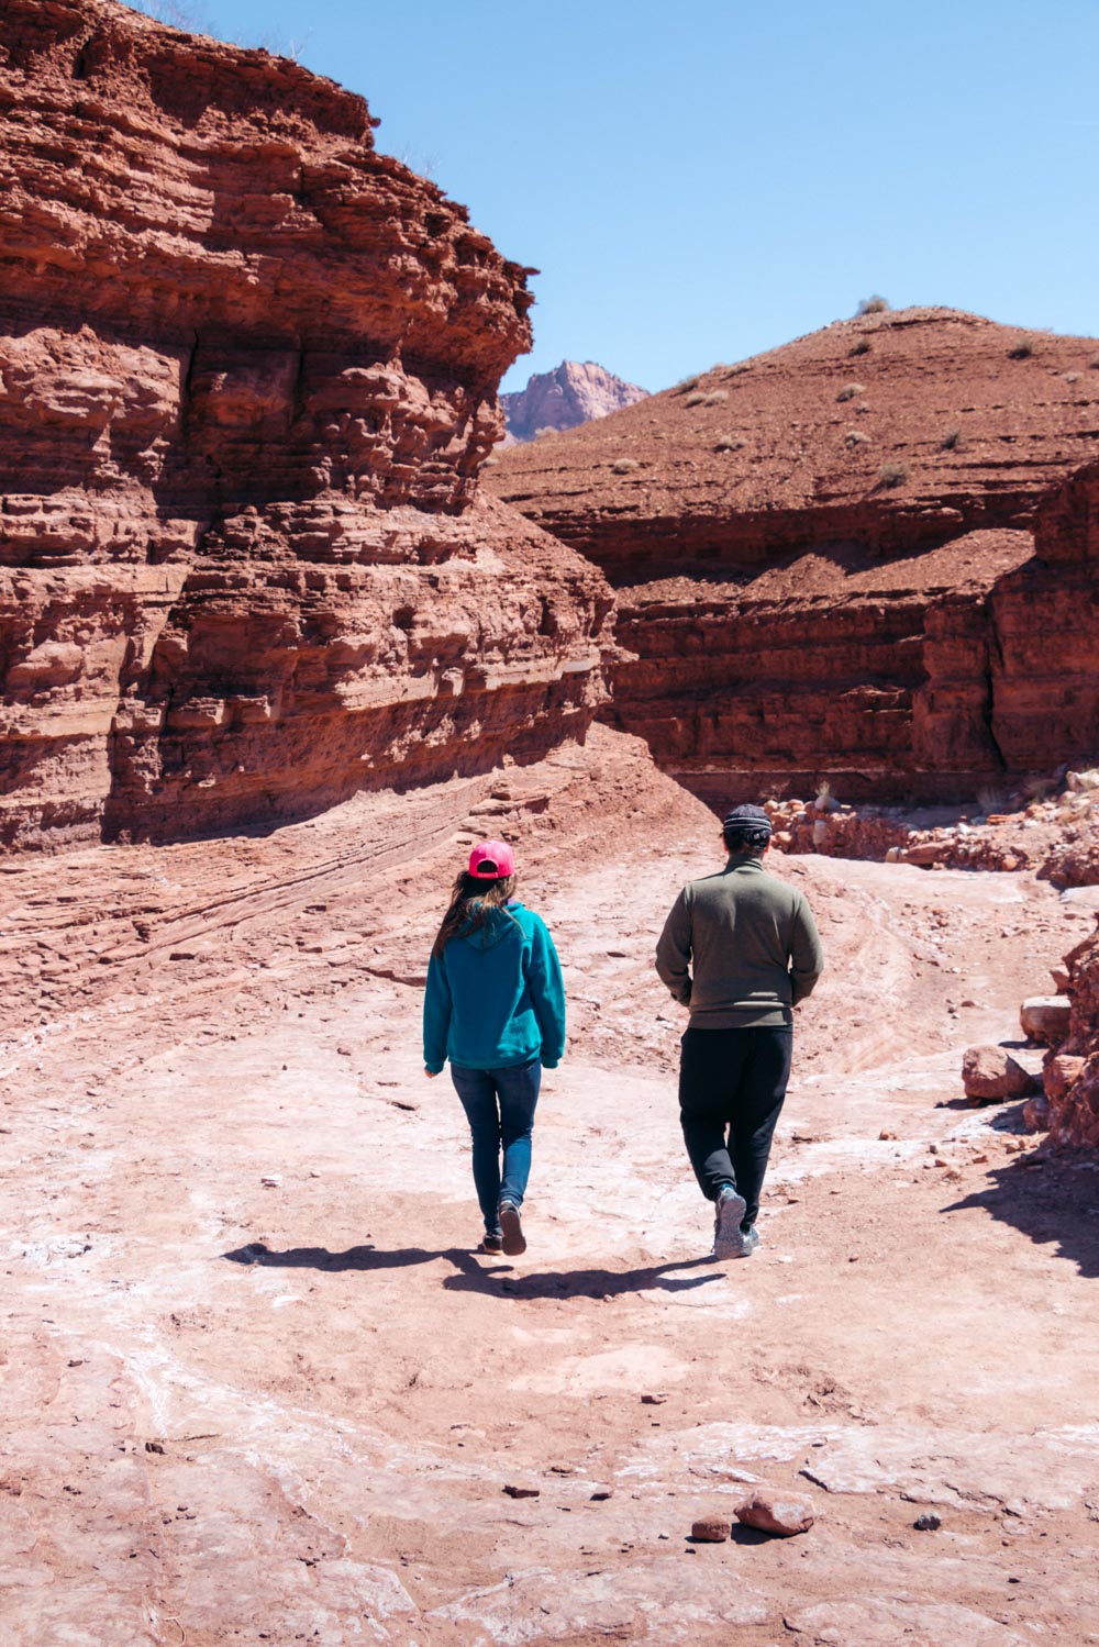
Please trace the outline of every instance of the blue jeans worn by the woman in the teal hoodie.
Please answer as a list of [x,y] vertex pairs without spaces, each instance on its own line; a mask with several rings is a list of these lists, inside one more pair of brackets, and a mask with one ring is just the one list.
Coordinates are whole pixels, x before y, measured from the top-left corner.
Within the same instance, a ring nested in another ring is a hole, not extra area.
[[521,1207],[527,1189],[542,1064],[537,1057],[514,1069],[463,1069],[451,1064],[450,1079],[473,1133],[473,1183],[484,1229],[496,1232],[501,1201],[514,1201]]

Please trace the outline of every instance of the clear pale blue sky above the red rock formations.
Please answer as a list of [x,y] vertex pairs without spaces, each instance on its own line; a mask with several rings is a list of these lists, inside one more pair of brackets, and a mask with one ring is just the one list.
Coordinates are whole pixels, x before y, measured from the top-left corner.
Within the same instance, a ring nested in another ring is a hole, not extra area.
[[194,0],[362,92],[534,264],[534,352],[662,389],[853,313],[1099,333],[1099,0]]

